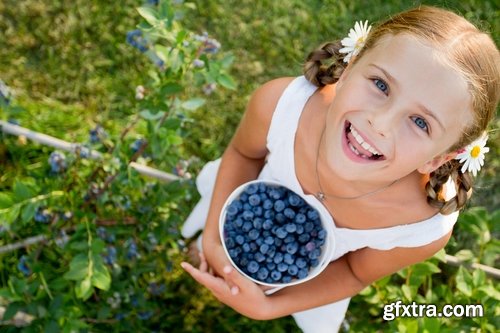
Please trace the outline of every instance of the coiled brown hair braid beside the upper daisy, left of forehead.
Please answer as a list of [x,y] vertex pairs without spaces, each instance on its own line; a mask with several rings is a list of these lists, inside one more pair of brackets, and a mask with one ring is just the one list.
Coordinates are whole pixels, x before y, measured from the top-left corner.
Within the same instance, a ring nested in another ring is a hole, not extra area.
[[[309,53],[304,64],[306,79],[318,87],[337,82],[346,67],[345,55],[339,52],[341,48],[340,41],[336,41],[325,43]],[[329,64],[324,64],[323,61],[328,59]]]

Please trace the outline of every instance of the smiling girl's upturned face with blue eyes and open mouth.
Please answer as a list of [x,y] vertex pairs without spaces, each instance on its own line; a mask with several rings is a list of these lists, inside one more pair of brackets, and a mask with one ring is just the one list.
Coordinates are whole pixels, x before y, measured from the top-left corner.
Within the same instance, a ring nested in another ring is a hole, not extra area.
[[342,75],[327,115],[328,164],[347,180],[429,173],[472,122],[466,81],[435,49],[389,36]]

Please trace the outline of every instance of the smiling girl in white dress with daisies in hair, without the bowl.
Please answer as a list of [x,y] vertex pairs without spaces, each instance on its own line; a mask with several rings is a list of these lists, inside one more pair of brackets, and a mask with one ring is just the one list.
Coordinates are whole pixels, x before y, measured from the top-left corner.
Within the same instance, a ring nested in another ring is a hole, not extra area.
[[[432,7],[354,37],[312,52],[304,77],[258,89],[222,159],[198,177],[202,200],[183,234],[206,220],[204,256],[199,269],[182,267],[250,318],[293,314],[304,332],[337,331],[351,296],[446,245],[470,196],[484,148],[463,148],[482,137],[500,95],[491,38]],[[314,196],[336,242],[321,274],[269,296],[231,268],[218,231],[225,199],[256,178]]]

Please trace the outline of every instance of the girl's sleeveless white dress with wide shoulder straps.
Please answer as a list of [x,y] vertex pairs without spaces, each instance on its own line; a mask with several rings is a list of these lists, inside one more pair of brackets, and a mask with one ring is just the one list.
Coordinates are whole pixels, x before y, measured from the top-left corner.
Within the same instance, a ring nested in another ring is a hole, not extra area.
[[[446,235],[455,224],[458,212],[450,215],[436,214],[433,217],[412,224],[398,225],[380,229],[338,228],[326,208],[314,195],[305,194],[295,174],[294,141],[299,119],[309,97],[317,87],[303,76],[294,79],[283,92],[274,111],[269,133],[267,149],[269,154],[259,179],[278,181],[300,194],[313,205],[323,218],[331,221],[335,239],[335,248],[331,260],[347,252],[364,247],[377,250],[390,250],[395,247],[418,247],[429,244]],[[201,199],[195,206],[183,228],[186,238],[204,228],[208,208],[215,184],[220,159],[207,163],[196,179]],[[454,195],[454,186],[446,186],[445,197]],[[344,319],[350,298],[321,307],[293,314],[297,325],[306,333],[338,332]]]

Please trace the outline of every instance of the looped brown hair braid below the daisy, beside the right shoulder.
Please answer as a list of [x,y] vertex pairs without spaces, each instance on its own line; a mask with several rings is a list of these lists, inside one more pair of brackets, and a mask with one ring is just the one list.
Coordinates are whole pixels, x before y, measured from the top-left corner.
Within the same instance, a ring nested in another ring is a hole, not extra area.
[[[461,164],[457,160],[450,160],[431,173],[430,179],[425,186],[427,202],[439,212],[448,215],[462,209],[470,198],[473,185],[472,176],[469,172],[462,173]],[[456,186],[457,194],[445,200],[442,197],[443,185],[451,177]]]

